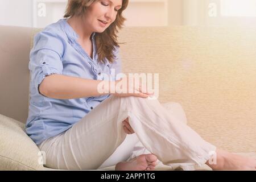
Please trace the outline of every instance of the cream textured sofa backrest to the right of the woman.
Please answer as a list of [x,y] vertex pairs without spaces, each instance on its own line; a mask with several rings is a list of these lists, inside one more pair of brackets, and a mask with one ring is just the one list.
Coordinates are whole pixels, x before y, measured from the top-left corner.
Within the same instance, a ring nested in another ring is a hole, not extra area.
[[123,71],[159,73],[159,101],[179,102],[188,125],[229,151],[256,148],[256,27],[129,27]]

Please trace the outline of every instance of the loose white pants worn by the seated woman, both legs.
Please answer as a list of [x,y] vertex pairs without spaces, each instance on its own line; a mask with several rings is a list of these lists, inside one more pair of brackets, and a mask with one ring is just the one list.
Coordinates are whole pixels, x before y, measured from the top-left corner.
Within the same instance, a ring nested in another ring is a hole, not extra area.
[[[207,162],[216,147],[185,124],[182,111],[166,109],[158,100],[110,96],[39,149],[46,154],[45,166],[56,169],[97,169],[148,153],[167,166],[179,163],[194,169]],[[123,130],[126,118],[133,135]]]

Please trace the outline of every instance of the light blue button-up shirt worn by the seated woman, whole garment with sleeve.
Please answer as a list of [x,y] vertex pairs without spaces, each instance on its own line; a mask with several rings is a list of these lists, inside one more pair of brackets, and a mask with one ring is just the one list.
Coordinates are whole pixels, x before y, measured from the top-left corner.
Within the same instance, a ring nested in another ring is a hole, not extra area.
[[[26,133],[40,144],[43,140],[58,135],[71,128],[85,117],[94,107],[109,95],[59,100],[48,98],[39,93],[38,86],[51,74],[81,77],[92,80],[104,80],[102,75],[113,76],[121,72],[118,48],[115,49],[114,63],[98,63],[95,32],[91,36],[93,59],[82,49],[79,36],[69,26],[67,19],[50,24],[35,35],[34,47],[30,52],[30,105],[26,123]],[[105,73],[105,74],[101,74]],[[113,80],[115,80],[115,75]],[[105,79],[106,80],[106,79]]]

